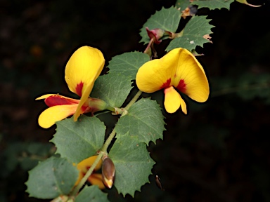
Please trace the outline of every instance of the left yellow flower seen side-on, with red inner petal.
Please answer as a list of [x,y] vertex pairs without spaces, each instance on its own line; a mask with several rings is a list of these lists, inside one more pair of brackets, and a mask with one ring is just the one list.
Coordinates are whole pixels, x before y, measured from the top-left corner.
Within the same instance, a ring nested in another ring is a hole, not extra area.
[[[89,102],[98,99],[91,99],[89,95],[104,64],[105,59],[100,50],[90,46],[82,46],[77,49],[65,67],[65,81],[68,83],[70,91],[79,95],[81,99],[75,100],[58,94],[38,97],[36,100],[45,99],[45,103],[49,107],[40,114],[39,126],[49,128],[56,121],[65,119],[72,114],[74,114],[74,121],[77,121],[80,114],[94,112],[95,109],[89,107]],[[98,104],[94,103],[94,106]]]

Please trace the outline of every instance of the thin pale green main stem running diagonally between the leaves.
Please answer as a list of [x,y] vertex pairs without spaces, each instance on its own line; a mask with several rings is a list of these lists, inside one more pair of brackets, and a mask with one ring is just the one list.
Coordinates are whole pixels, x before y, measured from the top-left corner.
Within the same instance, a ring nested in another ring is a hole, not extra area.
[[[125,110],[128,110],[129,107],[131,107],[131,105],[133,105],[136,100],[138,100],[138,98],[140,97],[141,95],[141,90],[139,90],[136,95],[134,95],[134,97],[132,98],[132,100],[130,100],[129,104],[127,104],[126,107],[124,107]],[[124,116],[125,114],[121,114],[121,116]],[[94,171],[94,168],[96,168],[96,165],[98,165],[98,161],[101,160],[102,156],[104,154],[107,153],[107,149],[110,145],[110,142],[113,141],[113,137],[115,137],[115,128],[113,128],[113,131],[112,133],[110,133],[109,137],[107,138],[107,140],[105,141],[105,143],[103,144],[103,147],[101,148],[101,151],[100,153],[98,154],[98,157],[96,158],[96,160],[94,161],[93,165],[89,168],[89,170],[87,170],[86,174],[84,175],[84,177],[82,177],[82,180],[79,181],[79,184],[72,190],[71,192],[71,196],[76,196],[76,194],[79,192],[79,189],[82,188],[82,186],[84,186],[84,183],[86,182],[86,180],[88,179],[88,177],[90,177],[90,175],[93,173]]]

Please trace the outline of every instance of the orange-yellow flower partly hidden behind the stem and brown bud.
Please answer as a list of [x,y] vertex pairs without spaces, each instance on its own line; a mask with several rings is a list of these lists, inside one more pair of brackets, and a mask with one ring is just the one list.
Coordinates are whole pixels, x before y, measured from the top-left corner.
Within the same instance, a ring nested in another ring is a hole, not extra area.
[[[88,159],[84,159],[83,161],[79,162],[77,164],[77,169],[79,170],[79,177],[77,182],[75,183],[75,186],[79,184],[79,181],[82,180],[82,177],[86,174],[87,170],[93,165],[94,161],[96,160],[97,156],[91,156]],[[102,161],[98,161],[98,165],[96,165],[96,168],[94,169],[94,172],[96,170],[101,169]],[[92,173],[90,177],[88,177],[88,181],[91,184],[98,185],[99,189],[105,189],[105,185],[102,182],[102,175],[100,173]]]

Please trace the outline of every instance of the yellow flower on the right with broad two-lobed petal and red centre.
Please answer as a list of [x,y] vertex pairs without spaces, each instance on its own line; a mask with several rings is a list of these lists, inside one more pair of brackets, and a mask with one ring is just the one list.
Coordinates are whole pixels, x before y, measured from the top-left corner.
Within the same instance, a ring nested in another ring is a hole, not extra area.
[[136,84],[146,93],[164,89],[164,105],[169,113],[181,107],[187,114],[186,103],[179,92],[197,102],[205,102],[210,93],[202,65],[184,48],[175,48],[162,58],[143,64],[137,72]]

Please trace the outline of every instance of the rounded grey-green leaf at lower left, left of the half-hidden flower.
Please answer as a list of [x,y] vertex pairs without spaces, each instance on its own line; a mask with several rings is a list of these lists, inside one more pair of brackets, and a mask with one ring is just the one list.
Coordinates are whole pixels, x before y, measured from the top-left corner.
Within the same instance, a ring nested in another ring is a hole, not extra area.
[[51,157],[29,171],[26,191],[36,198],[56,198],[71,191],[78,175],[79,170],[72,163]]

